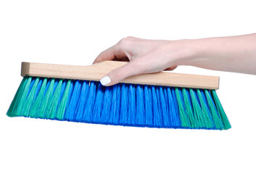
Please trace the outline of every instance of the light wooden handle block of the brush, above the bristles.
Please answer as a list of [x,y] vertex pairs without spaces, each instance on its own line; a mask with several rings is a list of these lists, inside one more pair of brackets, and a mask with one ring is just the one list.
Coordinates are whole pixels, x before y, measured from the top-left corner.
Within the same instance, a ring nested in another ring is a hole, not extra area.
[[[99,81],[108,72],[116,69],[117,67],[121,67],[126,63],[127,62],[104,61],[89,66],[76,66],[22,62],[21,75]],[[174,72],[157,72],[152,74],[135,75],[126,78],[121,83],[218,89],[219,77],[180,74]]]

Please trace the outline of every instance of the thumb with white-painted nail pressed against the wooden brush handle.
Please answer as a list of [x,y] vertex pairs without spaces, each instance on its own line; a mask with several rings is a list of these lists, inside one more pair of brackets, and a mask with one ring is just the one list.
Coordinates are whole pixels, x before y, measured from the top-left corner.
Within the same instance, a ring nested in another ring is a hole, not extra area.
[[140,74],[140,67],[133,61],[107,73],[101,80],[102,86],[112,86],[133,75]]

